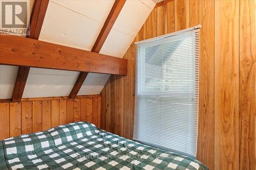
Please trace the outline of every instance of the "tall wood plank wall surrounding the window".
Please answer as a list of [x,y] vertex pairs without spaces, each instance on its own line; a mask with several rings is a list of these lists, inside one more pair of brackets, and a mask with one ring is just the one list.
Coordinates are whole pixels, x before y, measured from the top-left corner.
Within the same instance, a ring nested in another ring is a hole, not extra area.
[[101,128],[133,136],[136,41],[201,28],[197,159],[209,169],[256,169],[256,1],[174,0],[148,16],[124,58],[127,76],[101,92]]

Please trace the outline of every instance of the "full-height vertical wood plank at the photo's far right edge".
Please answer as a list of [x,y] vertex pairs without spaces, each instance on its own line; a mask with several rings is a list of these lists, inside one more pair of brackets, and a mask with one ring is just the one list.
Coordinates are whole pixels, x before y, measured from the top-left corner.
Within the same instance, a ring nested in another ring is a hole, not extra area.
[[240,169],[256,169],[256,1],[240,1]]

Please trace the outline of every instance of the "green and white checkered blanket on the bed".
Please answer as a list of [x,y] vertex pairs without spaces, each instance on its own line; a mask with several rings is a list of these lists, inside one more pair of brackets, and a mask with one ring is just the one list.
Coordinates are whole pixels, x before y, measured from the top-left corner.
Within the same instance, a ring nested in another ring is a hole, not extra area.
[[208,168],[193,158],[76,122],[0,141],[0,169]]

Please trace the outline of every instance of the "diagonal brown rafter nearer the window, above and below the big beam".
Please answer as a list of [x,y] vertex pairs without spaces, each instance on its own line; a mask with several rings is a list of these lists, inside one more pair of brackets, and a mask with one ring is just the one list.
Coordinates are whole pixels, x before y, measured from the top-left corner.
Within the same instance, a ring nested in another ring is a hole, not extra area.
[[[119,13],[121,12],[125,1],[126,0],[116,0],[115,1],[114,5],[109,13],[108,18],[106,18],[106,21],[99,33],[99,36],[93,45],[92,52],[95,52],[95,53],[100,52],[100,49],[103,46],[103,44],[106,40],[106,37],[108,37],[112,27],[114,26],[114,23],[119,15]],[[84,80],[86,80],[87,75],[88,75],[88,72],[80,72],[80,74],[76,80],[76,83],[70,92],[70,95],[69,95],[70,98],[74,99],[76,97]]]

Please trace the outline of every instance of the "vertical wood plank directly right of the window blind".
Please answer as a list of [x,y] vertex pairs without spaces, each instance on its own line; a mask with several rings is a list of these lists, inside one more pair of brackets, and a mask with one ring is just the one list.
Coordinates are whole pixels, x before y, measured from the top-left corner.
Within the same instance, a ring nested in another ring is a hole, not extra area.
[[211,0],[199,1],[198,7],[199,24],[202,28],[197,159],[209,169],[214,169],[214,3]]

